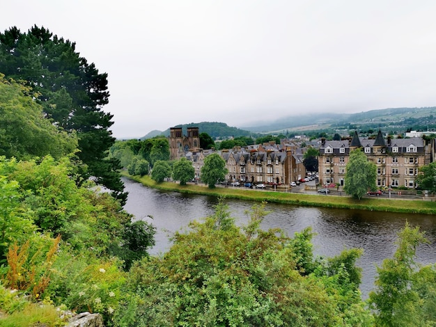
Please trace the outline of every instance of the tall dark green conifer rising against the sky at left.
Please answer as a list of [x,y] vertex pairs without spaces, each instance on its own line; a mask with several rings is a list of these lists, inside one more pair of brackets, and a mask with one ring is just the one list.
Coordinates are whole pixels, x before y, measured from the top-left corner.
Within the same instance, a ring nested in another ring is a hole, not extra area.
[[120,163],[106,159],[115,141],[109,130],[113,115],[102,111],[109,102],[107,74],[80,57],[74,42],[38,26],[27,33],[12,27],[0,34],[0,67],[7,78],[22,79],[36,91],[36,100],[57,126],[77,132],[77,155],[88,167],[85,179],[94,176],[125,202]]

